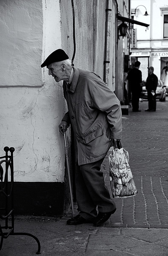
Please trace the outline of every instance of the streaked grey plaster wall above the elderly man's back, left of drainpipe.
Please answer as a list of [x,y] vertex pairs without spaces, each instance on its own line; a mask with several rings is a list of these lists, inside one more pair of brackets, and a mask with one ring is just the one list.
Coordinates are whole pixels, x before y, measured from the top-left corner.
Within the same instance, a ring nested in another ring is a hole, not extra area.
[[[72,58],[73,20],[71,1],[60,1],[60,6],[63,49],[67,49],[69,58]],[[74,66],[94,71],[102,79],[105,50],[105,8],[106,0],[74,1],[76,40]]]

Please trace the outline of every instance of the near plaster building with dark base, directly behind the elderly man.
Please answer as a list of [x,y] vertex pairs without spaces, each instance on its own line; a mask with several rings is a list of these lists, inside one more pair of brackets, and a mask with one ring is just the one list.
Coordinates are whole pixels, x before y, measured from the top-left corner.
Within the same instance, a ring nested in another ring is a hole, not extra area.
[[[69,205],[63,136],[67,111],[62,82],[40,65],[62,48],[74,66],[98,73],[123,100],[124,56],[130,39],[118,40],[118,13],[130,1],[0,1],[0,156],[14,147],[16,214],[62,215]],[[129,38],[129,36],[128,36]],[[68,130],[71,172],[72,131]],[[73,176],[73,175],[72,175]]]

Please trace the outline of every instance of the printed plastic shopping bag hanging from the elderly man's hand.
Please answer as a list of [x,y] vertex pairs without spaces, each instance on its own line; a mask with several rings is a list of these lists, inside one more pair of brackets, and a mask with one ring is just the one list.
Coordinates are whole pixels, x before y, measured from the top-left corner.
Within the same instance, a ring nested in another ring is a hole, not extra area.
[[110,183],[113,197],[130,197],[137,195],[129,166],[129,154],[124,148],[114,148],[108,157],[110,164]]

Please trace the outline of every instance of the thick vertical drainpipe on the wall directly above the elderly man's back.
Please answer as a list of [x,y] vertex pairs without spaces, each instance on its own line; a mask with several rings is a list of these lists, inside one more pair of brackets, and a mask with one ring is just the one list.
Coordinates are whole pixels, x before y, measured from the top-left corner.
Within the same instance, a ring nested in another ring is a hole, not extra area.
[[112,0],[106,2],[106,25],[105,25],[105,59],[104,59],[104,82],[108,85],[110,63],[110,35],[111,35],[111,7]]

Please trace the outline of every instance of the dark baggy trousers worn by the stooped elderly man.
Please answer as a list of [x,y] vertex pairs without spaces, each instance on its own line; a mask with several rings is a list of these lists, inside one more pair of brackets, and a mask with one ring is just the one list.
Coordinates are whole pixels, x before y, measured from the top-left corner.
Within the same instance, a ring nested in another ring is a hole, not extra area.
[[97,216],[100,212],[111,212],[116,208],[105,186],[103,172],[100,170],[103,159],[78,166],[76,171],[76,195],[80,215],[85,219]]

